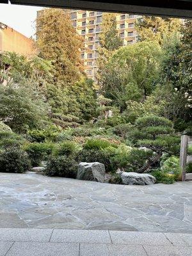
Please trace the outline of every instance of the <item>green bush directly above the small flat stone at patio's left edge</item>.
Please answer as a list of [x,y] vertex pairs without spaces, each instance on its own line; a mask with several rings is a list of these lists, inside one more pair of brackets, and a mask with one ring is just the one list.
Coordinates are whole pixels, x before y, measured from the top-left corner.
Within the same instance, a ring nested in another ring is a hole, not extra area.
[[24,146],[24,150],[28,153],[29,159],[31,159],[32,166],[39,166],[41,161],[45,161],[47,156],[52,154],[54,144],[47,143],[28,143]]

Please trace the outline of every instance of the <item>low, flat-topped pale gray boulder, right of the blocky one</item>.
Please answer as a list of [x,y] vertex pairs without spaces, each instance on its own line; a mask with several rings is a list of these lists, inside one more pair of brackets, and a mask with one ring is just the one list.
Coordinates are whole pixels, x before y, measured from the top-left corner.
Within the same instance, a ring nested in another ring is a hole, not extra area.
[[151,185],[156,183],[156,178],[148,173],[122,172],[122,183],[125,185]]

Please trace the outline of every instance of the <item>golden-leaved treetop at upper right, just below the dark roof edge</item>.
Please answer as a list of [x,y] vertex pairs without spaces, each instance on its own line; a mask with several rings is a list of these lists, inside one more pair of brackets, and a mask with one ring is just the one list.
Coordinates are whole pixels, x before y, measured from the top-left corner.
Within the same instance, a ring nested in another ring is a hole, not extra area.
[[164,38],[179,32],[181,24],[180,19],[143,16],[136,22],[136,30],[140,41],[153,41],[161,45]]

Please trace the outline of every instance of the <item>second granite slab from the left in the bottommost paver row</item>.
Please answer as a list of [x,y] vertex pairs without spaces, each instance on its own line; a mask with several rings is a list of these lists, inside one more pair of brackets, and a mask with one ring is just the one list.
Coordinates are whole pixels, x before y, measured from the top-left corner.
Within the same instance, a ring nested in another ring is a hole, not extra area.
[[79,256],[79,244],[16,242],[6,256]]

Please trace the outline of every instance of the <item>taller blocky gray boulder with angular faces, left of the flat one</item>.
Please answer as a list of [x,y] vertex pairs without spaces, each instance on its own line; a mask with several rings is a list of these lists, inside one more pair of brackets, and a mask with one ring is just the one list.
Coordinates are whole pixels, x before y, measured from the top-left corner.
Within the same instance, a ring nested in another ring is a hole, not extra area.
[[77,179],[104,182],[105,173],[106,170],[104,164],[98,162],[79,163]]

